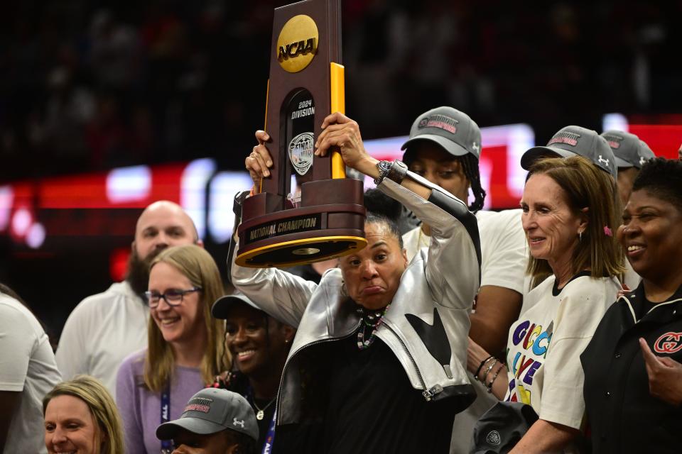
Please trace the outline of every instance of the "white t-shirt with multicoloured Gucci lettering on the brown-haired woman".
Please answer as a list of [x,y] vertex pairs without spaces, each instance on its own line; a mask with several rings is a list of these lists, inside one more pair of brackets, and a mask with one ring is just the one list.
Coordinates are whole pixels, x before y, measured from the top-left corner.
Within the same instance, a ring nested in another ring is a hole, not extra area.
[[554,276],[529,292],[530,309],[509,329],[505,400],[530,404],[545,421],[581,428],[585,414],[580,353],[616,300],[615,277],[578,276],[557,292]]

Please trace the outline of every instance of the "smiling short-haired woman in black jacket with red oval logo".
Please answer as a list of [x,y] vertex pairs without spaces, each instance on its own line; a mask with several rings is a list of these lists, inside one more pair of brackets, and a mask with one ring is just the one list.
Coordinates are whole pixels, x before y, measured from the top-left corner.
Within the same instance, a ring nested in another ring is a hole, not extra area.
[[592,452],[677,453],[682,426],[682,162],[657,158],[642,166],[617,236],[642,282],[607,311],[580,356]]

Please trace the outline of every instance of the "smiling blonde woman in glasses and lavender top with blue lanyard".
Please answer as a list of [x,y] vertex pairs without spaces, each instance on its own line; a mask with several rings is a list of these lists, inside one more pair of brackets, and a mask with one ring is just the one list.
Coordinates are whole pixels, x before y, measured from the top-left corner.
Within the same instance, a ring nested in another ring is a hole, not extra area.
[[148,348],[126,358],[117,375],[126,453],[170,453],[171,442],[158,441],[156,426],[178,418],[195,392],[229,368],[224,326],[210,315],[223,294],[217,265],[200,246],[168,248],[153,260]]

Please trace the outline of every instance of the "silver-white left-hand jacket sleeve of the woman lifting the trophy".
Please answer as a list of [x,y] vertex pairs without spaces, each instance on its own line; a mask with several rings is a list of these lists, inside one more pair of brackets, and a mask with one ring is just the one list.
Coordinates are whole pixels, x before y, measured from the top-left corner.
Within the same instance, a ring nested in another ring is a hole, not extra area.
[[[239,243],[235,245],[235,250]],[[232,257],[232,284],[267,314],[298,328],[308,301],[318,287],[315,282],[277,268],[247,268]]]

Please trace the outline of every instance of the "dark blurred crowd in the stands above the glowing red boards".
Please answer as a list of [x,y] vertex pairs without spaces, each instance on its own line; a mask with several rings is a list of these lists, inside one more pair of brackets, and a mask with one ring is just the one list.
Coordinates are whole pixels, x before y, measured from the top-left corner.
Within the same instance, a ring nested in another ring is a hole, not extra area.
[[[4,7],[0,180],[234,155],[265,111],[288,2],[24,1]],[[678,2],[342,1],[347,111],[399,135],[433,105],[543,141],[580,115],[673,111]]]

